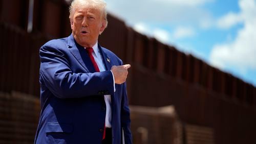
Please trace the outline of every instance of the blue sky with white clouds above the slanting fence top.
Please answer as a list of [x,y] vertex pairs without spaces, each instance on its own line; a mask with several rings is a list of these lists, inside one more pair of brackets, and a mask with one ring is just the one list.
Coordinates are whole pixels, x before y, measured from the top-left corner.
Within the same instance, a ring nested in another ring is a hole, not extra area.
[[134,30],[256,86],[256,0],[105,0]]

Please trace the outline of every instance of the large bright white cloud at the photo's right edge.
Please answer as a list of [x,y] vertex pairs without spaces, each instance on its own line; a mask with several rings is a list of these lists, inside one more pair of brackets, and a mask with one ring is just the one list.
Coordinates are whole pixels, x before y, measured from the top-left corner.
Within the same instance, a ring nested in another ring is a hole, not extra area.
[[240,13],[233,17],[241,16],[244,27],[233,41],[213,47],[210,62],[222,69],[228,66],[237,67],[241,73],[245,73],[248,69],[256,69],[256,1],[240,0],[239,6]]

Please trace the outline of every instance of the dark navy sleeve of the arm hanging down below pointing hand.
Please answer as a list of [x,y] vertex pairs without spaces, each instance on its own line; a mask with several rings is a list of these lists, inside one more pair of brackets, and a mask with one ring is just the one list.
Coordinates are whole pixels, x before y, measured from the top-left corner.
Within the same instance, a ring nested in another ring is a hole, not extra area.
[[125,144],[132,143],[132,132],[131,132],[131,119],[130,119],[130,109],[127,98],[126,82],[123,84],[123,94],[121,101],[121,126],[124,133]]

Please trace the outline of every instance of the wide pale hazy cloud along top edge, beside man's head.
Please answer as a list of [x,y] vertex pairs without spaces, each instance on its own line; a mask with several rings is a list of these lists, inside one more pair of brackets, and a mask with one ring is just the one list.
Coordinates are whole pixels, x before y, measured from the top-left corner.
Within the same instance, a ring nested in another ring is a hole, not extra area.
[[128,25],[139,21],[180,25],[190,23],[198,25],[199,21],[211,14],[201,7],[215,0],[105,0],[110,13],[122,18]]

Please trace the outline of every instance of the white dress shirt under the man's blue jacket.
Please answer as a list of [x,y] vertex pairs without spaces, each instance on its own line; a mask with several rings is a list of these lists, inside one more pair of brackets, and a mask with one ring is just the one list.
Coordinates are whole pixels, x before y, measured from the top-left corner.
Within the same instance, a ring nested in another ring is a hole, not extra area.
[[[98,42],[96,42],[95,45],[93,45],[93,57],[95,62],[97,63],[98,67],[99,67],[99,71],[105,71],[105,66],[104,66],[104,62],[103,62],[103,58],[99,52],[99,48],[98,48]],[[84,49],[86,49],[86,47],[84,47]],[[112,73],[112,71],[111,71]],[[113,81],[114,81],[114,92],[116,91],[115,89],[115,78],[114,75],[112,73],[113,76]],[[111,128],[112,124],[112,113],[111,113],[111,95],[104,95],[104,99],[105,99],[105,104],[106,104],[106,117],[105,117],[105,127]]]

